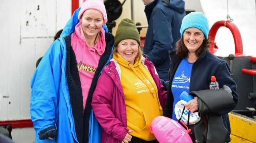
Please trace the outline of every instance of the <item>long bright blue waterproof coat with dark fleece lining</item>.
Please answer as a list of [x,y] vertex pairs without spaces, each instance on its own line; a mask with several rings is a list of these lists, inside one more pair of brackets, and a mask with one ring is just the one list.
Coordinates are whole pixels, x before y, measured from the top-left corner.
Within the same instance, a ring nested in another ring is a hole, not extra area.
[[[79,9],[61,34],[66,37],[52,43],[31,79],[30,113],[36,143],[99,143],[101,140],[102,128],[91,109],[91,100],[98,76],[112,58],[114,37],[109,32],[105,33],[106,49],[99,60],[83,112],[75,53],[71,47],[71,36],[67,36],[78,23],[78,12]],[[39,136],[54,135],[56,131],[53,140],[39,139]]]

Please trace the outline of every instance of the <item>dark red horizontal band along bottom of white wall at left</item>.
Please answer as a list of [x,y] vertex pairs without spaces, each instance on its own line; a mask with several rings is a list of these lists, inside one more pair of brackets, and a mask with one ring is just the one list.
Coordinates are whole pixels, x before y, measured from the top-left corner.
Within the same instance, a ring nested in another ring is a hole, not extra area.
[[33,122],[30,119],[0,121],[0,125],[7,125],[7,124],[12,124],[12,128],[33,127]]

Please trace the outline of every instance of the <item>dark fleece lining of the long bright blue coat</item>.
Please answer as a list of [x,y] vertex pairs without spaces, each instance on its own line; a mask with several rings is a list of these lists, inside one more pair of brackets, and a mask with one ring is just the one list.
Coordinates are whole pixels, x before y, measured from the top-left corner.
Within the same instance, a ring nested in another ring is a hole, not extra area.
[[[111,33],[105,33],[106,38],[106,50],[99,59],[99,65],[93,77],[91,83],[91,88],[86,101],[86,107],[83,113],[83,97],[82,88],[79,78],[79,73],[77,69],[75,53],[71,47],[71,36],[65,37],[65,42],[67,45],[67,63],[66,63],[66,74],[68,82],[68,90],[70,94],[70,103],[72,107],[72,114],[75,122],[76,136],[78,142],[87,143],[89,140],[89,120],[91,114],[91,101],[93,97],[93,92],[96,88],[98,81],[98,76],[105,64],[107,63],[111,53],[112,45],[114,44],[114,37]],[[71,70],[72,69],[72,70]]]

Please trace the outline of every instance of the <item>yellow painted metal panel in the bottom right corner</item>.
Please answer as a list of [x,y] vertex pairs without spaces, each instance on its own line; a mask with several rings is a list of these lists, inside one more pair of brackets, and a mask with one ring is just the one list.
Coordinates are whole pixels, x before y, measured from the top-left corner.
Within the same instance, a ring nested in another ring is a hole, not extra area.
[[256,121],[254,119],[231,112],[229,113],[229,120],[231,135],[256,143]]

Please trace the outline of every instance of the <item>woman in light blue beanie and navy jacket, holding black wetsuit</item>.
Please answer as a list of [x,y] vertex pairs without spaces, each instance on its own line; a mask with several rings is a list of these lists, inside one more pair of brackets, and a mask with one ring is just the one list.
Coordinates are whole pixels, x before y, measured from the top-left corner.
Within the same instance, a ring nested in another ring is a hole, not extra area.
[[[182,20],[180,33],[177,49],[169,53],[170,79],[163,115],[178,120],[174,107],[180,94],[186,91],[194,99],[185,107],[201,117],[199,122],[188,125],[193,142],[230,142],[228,113],[238,103],[237,88],[227,62],[208,51],[211,41],[206,16],[202,12],[189,13]],[[210,90],[211,76],[216,77],[219,89]]]

